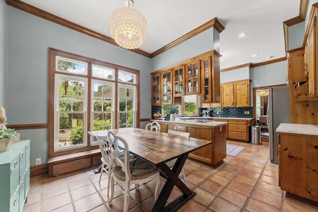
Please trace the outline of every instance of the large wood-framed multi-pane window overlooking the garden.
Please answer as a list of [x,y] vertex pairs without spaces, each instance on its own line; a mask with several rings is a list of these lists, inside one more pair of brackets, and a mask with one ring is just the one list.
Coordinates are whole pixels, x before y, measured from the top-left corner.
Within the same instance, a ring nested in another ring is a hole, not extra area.
[[139,71],[54,49],[49,63],[49,156],[96,148],[88,131],[138,127]]

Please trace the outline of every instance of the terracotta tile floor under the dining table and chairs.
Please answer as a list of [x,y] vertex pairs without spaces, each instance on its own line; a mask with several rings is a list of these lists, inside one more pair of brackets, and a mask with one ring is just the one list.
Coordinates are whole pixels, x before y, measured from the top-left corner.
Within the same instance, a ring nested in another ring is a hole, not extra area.
[[[227,156],[213,169],[187,160],[184,172],[188,187],[197,194],[179,212],[317,212],[318,209],[285,198],[278,186],[278,165],[269,162],[268,143],[255,145],[228,141],[244,146],[236,157]],[[120,212],[123,191],[115,185],[112,206],[107,204],[107,176],[92,169],[48,179],[32,178],[28,202],[23,212]],[[162,179],[161,188],[164,184]],[[155,204],[155,182],[137,191],[131,187],[130,212],[150,212]],[[168,203],[180,192],[173,189]]]

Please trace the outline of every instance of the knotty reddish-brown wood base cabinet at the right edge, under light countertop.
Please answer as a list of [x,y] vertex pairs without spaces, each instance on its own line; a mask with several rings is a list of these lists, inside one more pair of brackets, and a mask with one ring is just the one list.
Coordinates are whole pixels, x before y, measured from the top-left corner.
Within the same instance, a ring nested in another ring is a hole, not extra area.
[[279,141],[281,189],[318,202],[318,136],[279,133]]

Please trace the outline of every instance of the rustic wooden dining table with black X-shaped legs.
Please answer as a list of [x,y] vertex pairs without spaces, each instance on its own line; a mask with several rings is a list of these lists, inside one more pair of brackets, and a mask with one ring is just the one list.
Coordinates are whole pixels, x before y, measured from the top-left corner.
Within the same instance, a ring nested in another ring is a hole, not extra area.
[[[166,179],[152,212],[175,212],[196,194],[179,179],[179,174],[188,154],[212,141],[168,135],[139,128],[120,128],[110,131],[127,141],[131,154],[158,167],[160,175]],[[106,136],[107,130],[88,133]],[[165,162],[175,158],[177,160],[170,169]],[[180,190],[182,195],[165,206],[174,186]]]

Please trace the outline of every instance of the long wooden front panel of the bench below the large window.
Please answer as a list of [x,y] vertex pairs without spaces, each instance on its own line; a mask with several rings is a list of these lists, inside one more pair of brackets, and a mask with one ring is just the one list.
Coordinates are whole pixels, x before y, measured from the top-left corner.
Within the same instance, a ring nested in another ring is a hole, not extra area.
[[70,173],[91,166],[91,158],[86,157],[70,162],[59,163],[53,165],[53,176]]

